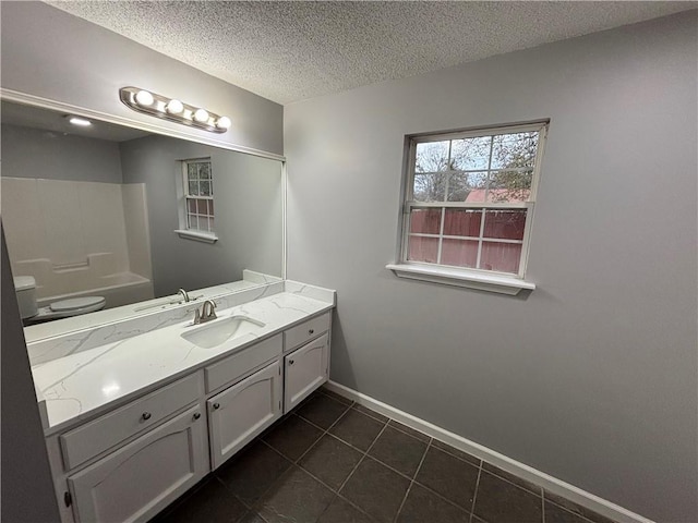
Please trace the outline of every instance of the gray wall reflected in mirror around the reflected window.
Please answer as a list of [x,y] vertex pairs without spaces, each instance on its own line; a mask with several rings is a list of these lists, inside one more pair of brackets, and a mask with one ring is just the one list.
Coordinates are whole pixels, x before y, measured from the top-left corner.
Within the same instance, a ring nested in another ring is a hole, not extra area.
[[[145,183],[155,295],[241,280],[242,269],[281,276],[281,162],[166,136],[120,145],[124,183]],[[210,157],[215,244],[179,238],[178,160]]]

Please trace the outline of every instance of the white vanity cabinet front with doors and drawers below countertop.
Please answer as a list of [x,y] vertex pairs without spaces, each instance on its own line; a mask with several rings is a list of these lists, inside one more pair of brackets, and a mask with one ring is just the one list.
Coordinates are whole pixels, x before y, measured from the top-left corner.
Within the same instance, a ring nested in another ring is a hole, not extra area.
[[62,523],[147,521],[328,377],[330,313],[47,437]]

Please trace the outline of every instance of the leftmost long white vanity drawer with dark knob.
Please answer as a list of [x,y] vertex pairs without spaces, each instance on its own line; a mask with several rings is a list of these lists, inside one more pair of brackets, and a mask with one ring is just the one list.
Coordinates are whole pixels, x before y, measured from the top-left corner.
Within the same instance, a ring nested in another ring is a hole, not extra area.
[[157,425],[202,396],[195,373],[60,437],[67,470],[84,463],[120,441]]

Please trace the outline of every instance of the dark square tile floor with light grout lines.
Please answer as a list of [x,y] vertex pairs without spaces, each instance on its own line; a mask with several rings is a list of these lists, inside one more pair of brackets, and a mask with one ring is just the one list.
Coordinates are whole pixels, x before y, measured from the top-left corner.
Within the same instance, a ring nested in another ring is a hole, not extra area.
[[157,523],[611,523],[321,389]]

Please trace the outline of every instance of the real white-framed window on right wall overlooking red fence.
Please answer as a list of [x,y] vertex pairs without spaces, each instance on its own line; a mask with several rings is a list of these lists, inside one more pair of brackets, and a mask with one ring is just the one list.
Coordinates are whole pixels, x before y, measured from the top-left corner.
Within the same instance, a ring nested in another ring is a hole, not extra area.
[[411,137],[400,262],[389,268],[531,288],[522,279],[546,129]]

